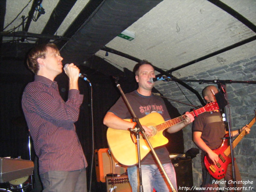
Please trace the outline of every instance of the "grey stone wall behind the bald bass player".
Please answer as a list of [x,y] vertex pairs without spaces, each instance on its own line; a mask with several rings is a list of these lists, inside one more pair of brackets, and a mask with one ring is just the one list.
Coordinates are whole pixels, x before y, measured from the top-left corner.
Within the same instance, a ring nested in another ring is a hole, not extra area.
[[[226,84],[227,100],[229,102],[227,111],[230,111],[230,127],[232,130],[240,129],[245,124],[248,124],[255,116],[254,109],[256,108],[256,84],[241,83],[240,81],[255,81],[256,80],[256,56],[241,60],[239,62],[231,63],[230,65],[223,66],[217,70],[205,70],[205,72],[198,74],[197,76],[188,76],[188,79],[205,79],[205,80],[232,80],[232,83]],[[238,82],[237,82],[238,81]],[[198,82],[186,82],[189,86],[197,90],[200,95],[204,87],[208,86],[208,83],[200,84]],[[212,83],[211,83],[212,84]],[[196,95],[180,84],[174,81],[169,82],[156,82],[156,89],[160,91],[165,97],[170,99],[176,99],[194,105],[201,105]],[[186,97],[189,101],[186,99]],[[178,111],[183,114],[186,111],[193,109],[191,106],[176,103],[170,101]],[[184,135],[184,147],[185,151],[190,148],[197,147],[192,141],[191,125],[183,129]],[[256,191],[256,123],[251,127],[249,135],[246,135],[241,142],[234,149],[234,157],[239,165],[243,181],[250,181],[253,189]],[[193,180],[195,186],[200,186],[202,181],[200,154],[193,159]],[[249,184],[245,185],[249,187]],[[244,190],[245,191],[245,190]]]

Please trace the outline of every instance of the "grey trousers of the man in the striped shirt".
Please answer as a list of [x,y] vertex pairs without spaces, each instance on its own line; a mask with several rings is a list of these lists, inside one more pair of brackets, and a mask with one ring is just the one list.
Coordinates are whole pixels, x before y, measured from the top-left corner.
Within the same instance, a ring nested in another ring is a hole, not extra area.
[[40,174],[43,192],[87,192],[86,168],[72,172],[50,171]]

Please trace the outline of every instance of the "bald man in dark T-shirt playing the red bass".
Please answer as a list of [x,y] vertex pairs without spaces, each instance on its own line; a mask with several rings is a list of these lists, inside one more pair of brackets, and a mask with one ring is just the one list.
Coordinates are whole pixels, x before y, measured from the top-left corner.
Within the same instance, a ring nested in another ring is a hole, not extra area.
[[[202,91],[202,95],[207,103],[216,101],[216,98],[215,98],[216,93],[218,93],[218,89],[215,86],[207,86]],[[237,137],[244,130],[245,130],[245,134],[249,134],[250,129],[248,128],[248,125],[245,125],[240,130],[232,131],[231,135],[233,137]],[[202,175],[203,183],[201,185],[202,187],[216,186],[213,180],[216,181],[218,178],[212,177],[212,175],[210,175],[209,172],[207,171],[204,165],[204,156],[207,155],[207,158],[210,160],[211,164],[220,166],[221,160],[219,158],[219,155],[212,150],[217,149],[222,144],[222,138],[226,133],[228,132],[225,131],[225,124],[222,120],[222,114],[219,111],[203,113],[199,115],[194,121],[193,140],[196,143],[196,145],[202,150],[202,159],[201,159],[202,172],[203,172],[203,175]],[[241,179],[241,175],[240,175],[239,168],[236,161],[234,162],[234,168],[236,173],[236,180],[241,181],[242,179]],[[215,169],[212,170],[212,173],[214,171]],[[223,178],[223,176],[224,175],[220,177]],[[227,187],[234,186],[232,184],[233,182],[230,182],[233,180],[232,178],[233,178],[232,164],[229,163],[226,167],[226,174],[224,176],[224,180],[226,181],[224,183],[226,184]],[[242,187],[241,182],[237,182],[236,186]],[[241,190],[237,190],[237,191],[241,191]]]

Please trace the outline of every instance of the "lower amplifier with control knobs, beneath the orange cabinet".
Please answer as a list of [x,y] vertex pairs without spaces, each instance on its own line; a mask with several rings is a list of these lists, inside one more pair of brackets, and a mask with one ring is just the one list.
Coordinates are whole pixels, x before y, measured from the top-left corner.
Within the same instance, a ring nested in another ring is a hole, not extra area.
[[105,180],[106,192],[132,192],[132,187],[130,185],[127,175],[122,175],[119,177],[106,177]]

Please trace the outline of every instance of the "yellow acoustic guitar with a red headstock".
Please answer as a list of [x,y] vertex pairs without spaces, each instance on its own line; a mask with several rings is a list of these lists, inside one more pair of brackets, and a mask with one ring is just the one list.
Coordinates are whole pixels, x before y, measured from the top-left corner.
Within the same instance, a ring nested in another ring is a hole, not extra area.
[[[200,109],[189,112],[191,115],[198,116],[204,112],[210,112],[218,110],[219,105],[217,102],[209,103]],[[168,143],[168,139],[163,136],[163,131],[170,126],[178,124],[185,121],[185,115],[180,117],[164,121],[163,117],[158,113],[151,113],[139,119],[142,125],[147,126],[152,129],[153,136],[148,137],[153,148],[165,145]],[[124,119],[126,121],[131,121],[132,119]],[[106,138],[108,140],[109,148],[114,156],[114,158],[122,165],[131,166],[138,163],[137,155],[137,144],[134,140],[134,135],[128,130],[117,130],[108,128],[106,132]],[[143,159],[150,151],[150,146],[148,146],[146,140],[140,135],[140,156]]]

